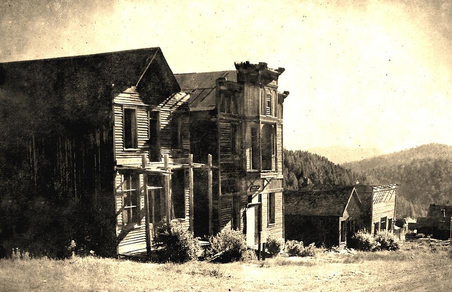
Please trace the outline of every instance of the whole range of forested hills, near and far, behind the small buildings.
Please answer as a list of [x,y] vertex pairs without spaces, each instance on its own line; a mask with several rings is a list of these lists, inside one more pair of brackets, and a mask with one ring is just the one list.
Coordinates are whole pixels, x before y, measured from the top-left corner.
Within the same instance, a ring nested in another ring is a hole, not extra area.
[[429,204],[452,205],[452,146],[426,144],[343,164],[308,151],[284,150],[285,189],[297,190],[307,182],[314,188],[397,183],[396,217],[425,216]]

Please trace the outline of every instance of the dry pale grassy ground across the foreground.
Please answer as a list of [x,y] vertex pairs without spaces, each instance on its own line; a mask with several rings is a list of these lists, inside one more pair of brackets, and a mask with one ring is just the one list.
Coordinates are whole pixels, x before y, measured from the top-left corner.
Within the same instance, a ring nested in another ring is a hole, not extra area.
[[0,260],[2,291],[449,291],[452,248],[281,257],[227,264],[111,258]]

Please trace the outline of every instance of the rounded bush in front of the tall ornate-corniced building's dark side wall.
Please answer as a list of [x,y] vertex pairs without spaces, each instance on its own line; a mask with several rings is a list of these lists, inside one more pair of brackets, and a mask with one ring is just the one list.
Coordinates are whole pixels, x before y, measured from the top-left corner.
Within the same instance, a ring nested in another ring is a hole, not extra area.
[[222,262],[239,260],[247,250],[243,233],[229,228],[224,228],[215,236],[211,236],[209,242],[212,254],[222,253]]

